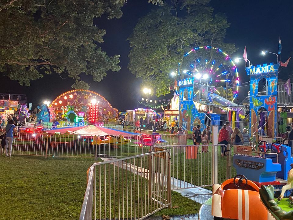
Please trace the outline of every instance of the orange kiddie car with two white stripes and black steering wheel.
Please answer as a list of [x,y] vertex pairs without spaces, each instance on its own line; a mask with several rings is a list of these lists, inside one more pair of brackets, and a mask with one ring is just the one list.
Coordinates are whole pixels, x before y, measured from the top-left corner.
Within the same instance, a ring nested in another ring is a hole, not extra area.
[[243,175],[213,185],[214,219],[273,220],[259,197],[259,187]]

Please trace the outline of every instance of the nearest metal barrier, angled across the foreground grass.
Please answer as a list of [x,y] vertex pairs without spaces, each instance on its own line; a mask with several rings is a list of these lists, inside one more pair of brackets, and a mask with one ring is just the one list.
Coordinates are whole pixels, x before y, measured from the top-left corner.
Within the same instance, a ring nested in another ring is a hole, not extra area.
[[144,219],[171,207],[170,153],[157,150],[94,163],[79,220]]

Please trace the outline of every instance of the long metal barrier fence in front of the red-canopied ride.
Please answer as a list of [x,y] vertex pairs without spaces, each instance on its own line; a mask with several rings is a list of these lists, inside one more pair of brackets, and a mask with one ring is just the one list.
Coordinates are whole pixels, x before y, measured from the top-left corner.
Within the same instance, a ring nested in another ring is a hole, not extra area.
[[[13,154],[59,157],[125,157],[147,153],[141,135],[16,133]],[[2,151],[1,151],[2,154]]]

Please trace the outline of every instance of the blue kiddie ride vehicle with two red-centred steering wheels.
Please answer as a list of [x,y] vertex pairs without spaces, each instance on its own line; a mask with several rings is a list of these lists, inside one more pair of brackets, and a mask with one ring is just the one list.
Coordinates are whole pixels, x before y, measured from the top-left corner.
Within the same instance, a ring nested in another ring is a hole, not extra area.
[[[241,154],[233,155],[233,166],[237,174],[246,176],[259,187],[261,185],[273,185],[275,197],[280,196],[283,185],[287,183],[288,171],[293,163],[291,147],[278,142],[268,144],[260,141],[257,152],[241,151]],[[287,190],[284,197],[291,196],[293,190]]]

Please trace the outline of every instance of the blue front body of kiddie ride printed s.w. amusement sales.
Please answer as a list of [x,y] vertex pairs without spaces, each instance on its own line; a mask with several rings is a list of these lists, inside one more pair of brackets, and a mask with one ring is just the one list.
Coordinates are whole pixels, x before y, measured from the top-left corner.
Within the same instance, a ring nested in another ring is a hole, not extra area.
[[233,166],[237,174],[242,174],[254,182],[273,182],[276,180],[277,172],[281,171],[281,165],[273,163],[270,158],[249,155],[235,154]]

